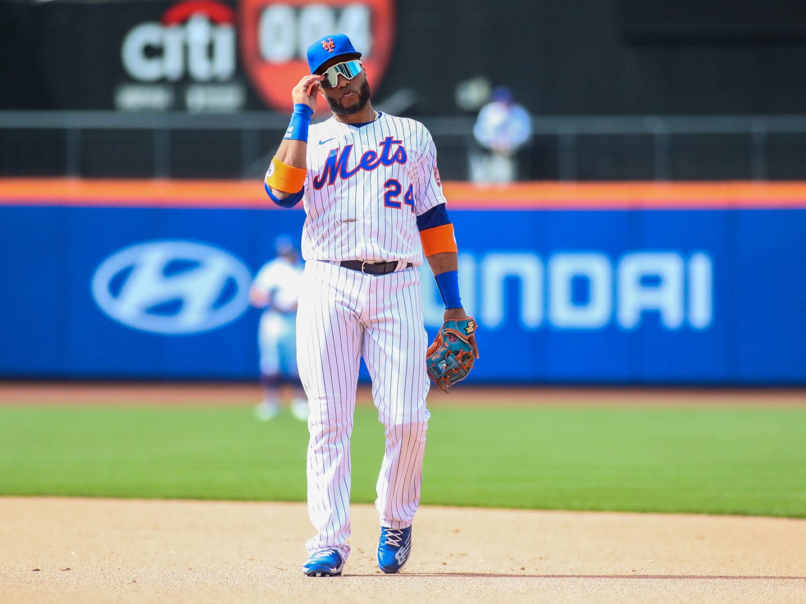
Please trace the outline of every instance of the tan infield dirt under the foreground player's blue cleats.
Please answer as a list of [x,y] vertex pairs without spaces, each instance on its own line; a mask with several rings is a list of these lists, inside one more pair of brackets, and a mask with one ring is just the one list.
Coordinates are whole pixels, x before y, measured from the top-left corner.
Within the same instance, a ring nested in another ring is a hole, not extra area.
[[0,499],[2,602],[804,602],[806,521],[423,507],[402,573],[353,507],[343,577],[300,503]]

